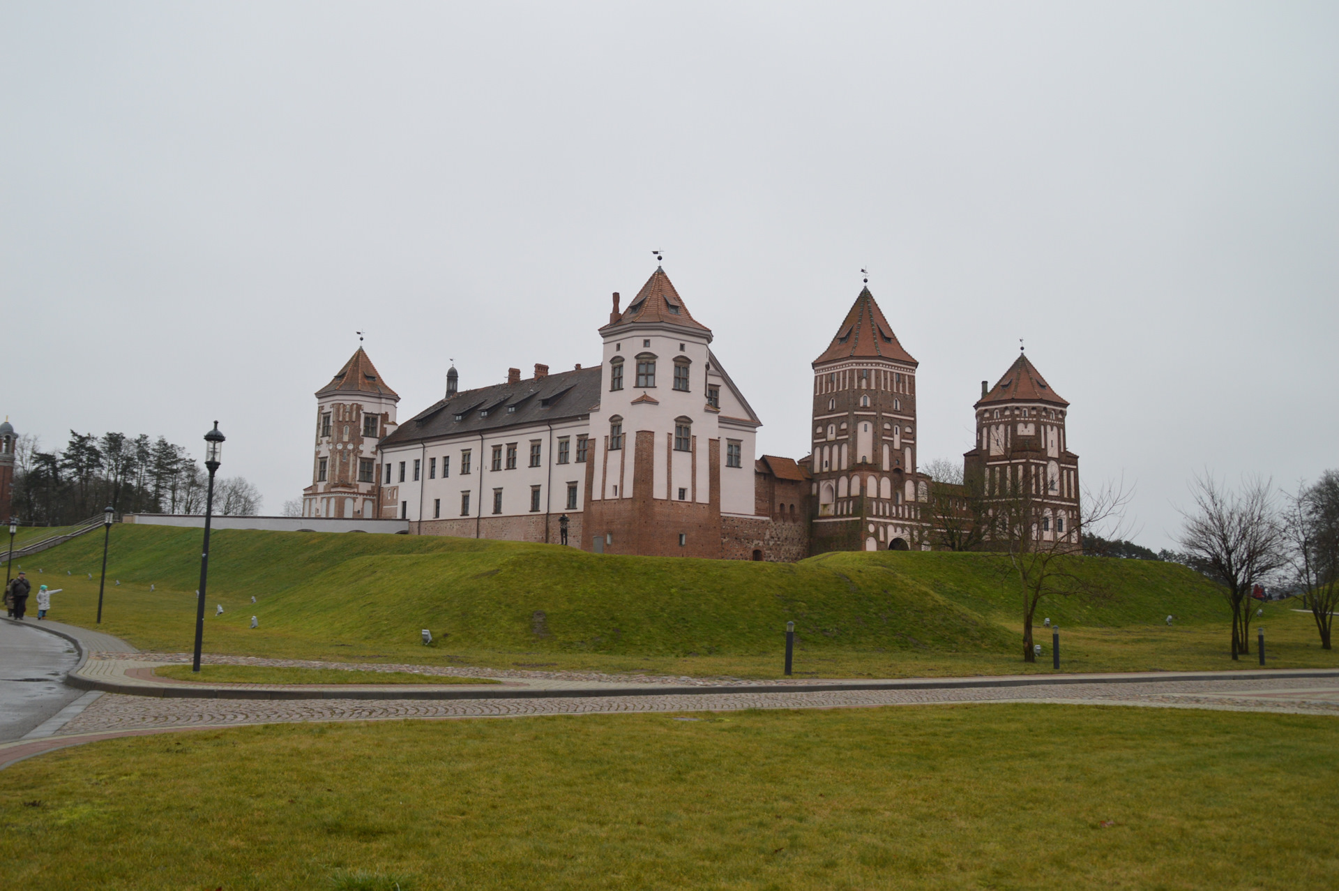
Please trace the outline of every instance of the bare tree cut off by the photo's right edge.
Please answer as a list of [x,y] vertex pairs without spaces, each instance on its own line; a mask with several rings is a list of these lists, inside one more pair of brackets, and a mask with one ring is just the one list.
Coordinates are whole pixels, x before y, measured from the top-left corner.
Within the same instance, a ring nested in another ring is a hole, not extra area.
[[1314,485],[1297,488],[1284,508],[1283,531],[1302,603],[1316,622],[1320,648],[1330,650],[1339,608],[1339,472],[1326,470]]

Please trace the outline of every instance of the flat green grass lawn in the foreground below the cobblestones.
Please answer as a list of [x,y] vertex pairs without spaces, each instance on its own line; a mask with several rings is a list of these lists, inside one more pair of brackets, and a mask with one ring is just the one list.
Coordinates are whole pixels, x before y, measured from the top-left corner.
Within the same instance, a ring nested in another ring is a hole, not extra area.
[[1339,721],[963,705],[269,725],[0,773],[12,888],[1335,887]]

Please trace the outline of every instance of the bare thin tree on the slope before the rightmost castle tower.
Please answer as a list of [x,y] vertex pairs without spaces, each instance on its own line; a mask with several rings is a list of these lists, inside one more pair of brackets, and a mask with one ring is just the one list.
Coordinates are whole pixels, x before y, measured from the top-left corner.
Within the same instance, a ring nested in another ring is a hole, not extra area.
[[1055,596],[1101,594],[1077,572],[1082,536],[1091,531],[1121,537],[1125,508],[1134,493],[1123,480],[1095,492],[1083,489],[1079,516],[1069,517],[1066,528],[1065,517],[1052,516],[1028,486],[1014,482],[1012,476],[1008,480],[986,498],[986,544],[1008,560],[1008,573],[1023,599],[1023,661],[1036,662],[1032,623],[1038,607]]

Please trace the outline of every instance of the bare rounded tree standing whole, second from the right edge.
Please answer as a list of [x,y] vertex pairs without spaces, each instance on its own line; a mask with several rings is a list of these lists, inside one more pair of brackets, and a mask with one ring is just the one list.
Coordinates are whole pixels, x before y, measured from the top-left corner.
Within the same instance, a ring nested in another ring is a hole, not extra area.
[[1223,583],[1232,607],[1232,658],[1251,653],[1251,590],[1287,561],[1273,485],[1260,477],[1228,492],[1210,474],[1190,481],[1189,509],[1181,509],[1181,547],[1205,575]]

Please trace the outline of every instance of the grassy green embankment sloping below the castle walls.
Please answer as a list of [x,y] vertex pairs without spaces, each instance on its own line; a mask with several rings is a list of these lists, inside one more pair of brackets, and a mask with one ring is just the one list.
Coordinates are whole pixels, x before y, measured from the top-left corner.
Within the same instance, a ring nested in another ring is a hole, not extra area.
[[[189,650],[200,537],[198,529],[115,527],[102,628],[145,650]],[[88,536],[27,561],[29,573],[44,569],[35,580],[66,588],[51,618],[92,624],[100,560],[100,537]],[[1201,576],[1152,561],[1073,563],[1093,595],[1054,600],[1039,614],[1063,628],[1062,670],[1232,666],[1228,610]],[[1024,667],[1016,588],[999,557],[976,553],[829,553],[766,564],[225,531],[213,539],[208,594],[209,653],[775,677],[785,623],[794,620],[799,675],[1051,670],[1048,631],[1043,662]],[[224,615],[214,615],[216,604]],[[1269,666],[1339,666],[1319,648],[1308,616],[1279,604],[1264,610]],[[432,631],[434,646],[419,643],[422,628]],[[1237,667],[1253,665],[1251,657]]]

